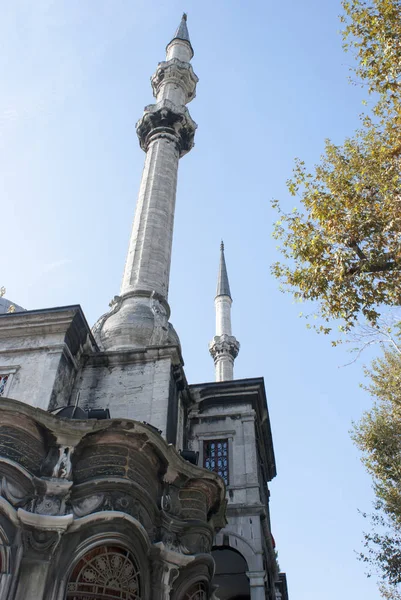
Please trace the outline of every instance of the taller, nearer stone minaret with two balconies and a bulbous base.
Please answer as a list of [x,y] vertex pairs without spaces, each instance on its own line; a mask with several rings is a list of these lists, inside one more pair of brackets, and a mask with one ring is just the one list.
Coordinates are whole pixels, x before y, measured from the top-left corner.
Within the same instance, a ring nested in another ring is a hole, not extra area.
[[105,350],[179,343],[167,295],[178,161],[193,147],[196,129],[185,105],[198,82],[185,14],[166,52],[151,79],[156,104],[136,125],[146,158],[120,295],[94,328]]

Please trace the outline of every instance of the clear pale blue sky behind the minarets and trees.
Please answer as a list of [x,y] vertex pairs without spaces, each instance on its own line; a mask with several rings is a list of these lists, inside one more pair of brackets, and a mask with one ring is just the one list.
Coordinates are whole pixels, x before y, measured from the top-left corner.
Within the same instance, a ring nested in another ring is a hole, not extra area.
[[92,324],[119,292],[144,155],[149,78],[183,10],[200,78],[196,146],[180,165],[171,320],[190,383],[207,344],[223,237],[241,342],[236,377],[264,376],[278,476],[272,528],[291,600],[373,600],[362,548],[370,480],[349,438],[370,405],[362,364],[305,329],[278,291],[269,201],[289,208],[293,159],[352,133],[337,0],[0,0],[0,281],[26,308],[80,303]]

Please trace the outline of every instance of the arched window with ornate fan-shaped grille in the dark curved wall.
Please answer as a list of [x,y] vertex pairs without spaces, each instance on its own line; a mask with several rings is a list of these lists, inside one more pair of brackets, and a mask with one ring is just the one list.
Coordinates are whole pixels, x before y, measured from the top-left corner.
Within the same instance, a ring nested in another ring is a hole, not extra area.
[[140,574],[134,557],[119,546],[93,548],[75,565],[66,598],[140,600]]

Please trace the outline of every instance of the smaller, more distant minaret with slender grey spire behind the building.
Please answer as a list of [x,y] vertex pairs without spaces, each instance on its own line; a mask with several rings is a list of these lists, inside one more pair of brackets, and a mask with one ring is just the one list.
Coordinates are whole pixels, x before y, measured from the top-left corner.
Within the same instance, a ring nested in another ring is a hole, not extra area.
[[234,379],[234,360],[238,356],[239,342],[231,332],[232,302],[224,257],[224,243],[221,242],[217,292],[214,299],[216,335],[209,344],[209,351],[215,365],[216,381],[231,381]]

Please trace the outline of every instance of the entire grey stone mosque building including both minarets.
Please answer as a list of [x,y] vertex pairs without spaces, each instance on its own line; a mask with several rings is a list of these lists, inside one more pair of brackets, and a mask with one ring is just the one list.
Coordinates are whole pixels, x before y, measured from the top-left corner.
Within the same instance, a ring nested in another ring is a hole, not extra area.
[[223,244],[215,382],[188,384],[169,321],[178,162],[197,127],[185,15],[166,52],[110,310],[91,329],[79,305],[0,304],[0,600],[288,600],[265,386],[233,377]]

